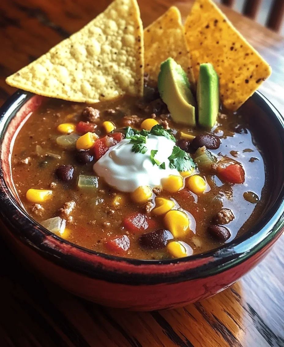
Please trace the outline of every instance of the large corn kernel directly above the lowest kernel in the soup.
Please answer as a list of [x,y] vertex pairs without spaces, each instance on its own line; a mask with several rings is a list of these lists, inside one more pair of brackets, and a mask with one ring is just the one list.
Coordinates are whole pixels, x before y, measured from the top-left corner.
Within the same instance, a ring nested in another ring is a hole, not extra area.
[[189,218],[179,210],[171,210],[164,217],[166,228],[174,237],[182,237],[189,231]]

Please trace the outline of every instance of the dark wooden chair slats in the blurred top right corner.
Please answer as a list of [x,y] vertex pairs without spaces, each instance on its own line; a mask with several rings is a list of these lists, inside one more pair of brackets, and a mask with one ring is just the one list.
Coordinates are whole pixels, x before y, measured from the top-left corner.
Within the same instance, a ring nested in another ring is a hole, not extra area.
[[[236,0],[221,0],[221,3],[233,7]],[[243,14],[256,19],[262,0],[246,0],[243,7]],[[279,31],[284,19],[284,0],[273,0],[269,14],[266,19],[266,26]]]

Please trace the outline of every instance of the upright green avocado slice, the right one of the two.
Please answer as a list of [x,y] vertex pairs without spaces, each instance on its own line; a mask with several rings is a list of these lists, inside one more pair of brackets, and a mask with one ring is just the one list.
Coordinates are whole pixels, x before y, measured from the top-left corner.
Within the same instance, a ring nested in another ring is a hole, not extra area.
[[219,78],[210,63],[200,64],[197,80],[198,124],[212,128],[216,122],[219,102]]

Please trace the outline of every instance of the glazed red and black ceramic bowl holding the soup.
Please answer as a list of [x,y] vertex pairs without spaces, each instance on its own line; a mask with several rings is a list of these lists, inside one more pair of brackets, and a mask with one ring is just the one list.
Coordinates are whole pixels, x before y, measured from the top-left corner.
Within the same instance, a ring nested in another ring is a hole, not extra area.
[[136,260],[90,251],[34,221],[21,205],[11,176],[17,133],[44,100],[17,91],[0,111],[0,231],[22,259],[65,289],[91,301],[130,310],[183,306],[227,288],[257,265],[284,227],[284,119],[256,92],[241,109],[258,124],[271,159],[273,190],[266,210],[245,235],[211,252],[176,260]]

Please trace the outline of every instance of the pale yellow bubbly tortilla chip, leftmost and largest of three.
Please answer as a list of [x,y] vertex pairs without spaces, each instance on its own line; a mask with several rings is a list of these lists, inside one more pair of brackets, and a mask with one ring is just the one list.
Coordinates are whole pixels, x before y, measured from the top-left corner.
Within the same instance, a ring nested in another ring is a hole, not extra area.
[[136,0],[115,0],[80,31],[6,82],[39,95],[94,103],[143,95],[143,25]]

